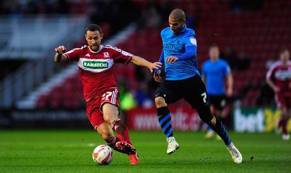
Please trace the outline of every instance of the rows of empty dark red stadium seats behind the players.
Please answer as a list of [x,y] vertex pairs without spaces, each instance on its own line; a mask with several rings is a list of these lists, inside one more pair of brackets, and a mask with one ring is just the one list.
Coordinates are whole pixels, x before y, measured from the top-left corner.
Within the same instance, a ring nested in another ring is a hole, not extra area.
[[[131,3],[142,11],[143,21],[137,21],[140,25],[138,30],[115,46],[145,57],[149,61],[157,61],[162,49],[160,31],[168,26],[166,22],[168,11],[173,8],[182,8],[189,19],[187,25],[194,26],[197,35],[200,67],[208,59],[208,47],[213,43],[219,45],[221,58],[227,57],[228,49],[233,49],[239,56],[244,53],[249,58],[250,65],[243,70],[237,67],[237,64],[240,64],[239,58],[226,60],[234,62],[229,62],[234,64],[232,67],[235,79],[234,99],[241,100],[243,106],[255,106],[258,98],[261,97],[261,87],[258,86],[265,76],[267,61],[278,59],[281,48],[291,48],[289,34],[291,33],[291,1],[261,0],[261,3],[257,3],[254,8],[245,8],[232,2],[231,0],[203,0],[203,2],[179,0],[166,3],[163,0],[155,2],[132,0]],[[82,7],[82,9],[85,8]],[[156,17],[156,21],[144,21],[143,16],[156,14],[154,9],[157,8],[159,9],[157,11],[160,11],[158,13],[160,17]],[[70,8],[70,10],[76,9]],[[114,29],[112,23],[103,23],[103,26],[105,32],[111,32]],[[134,91],[141,83],[137,80],[136,70],[133,66],[116,65],[116,78],[131,81],[129,87]],[[145,80],[147,83],[152,83],[150,78]],[[69,76],[65,81],[61,86],[53,87],[48,93],[39,94],[37,107],[45,108],[49,105],[82,107],[84,100],[78,74]]]

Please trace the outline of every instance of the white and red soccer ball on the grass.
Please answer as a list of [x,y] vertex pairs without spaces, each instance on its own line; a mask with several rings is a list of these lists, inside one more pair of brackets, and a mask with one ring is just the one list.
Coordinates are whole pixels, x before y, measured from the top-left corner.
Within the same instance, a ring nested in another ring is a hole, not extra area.
[[107,145],[99,145],[92,154],[93,160],[98,165],[109,165],[113,159],[113,152]]

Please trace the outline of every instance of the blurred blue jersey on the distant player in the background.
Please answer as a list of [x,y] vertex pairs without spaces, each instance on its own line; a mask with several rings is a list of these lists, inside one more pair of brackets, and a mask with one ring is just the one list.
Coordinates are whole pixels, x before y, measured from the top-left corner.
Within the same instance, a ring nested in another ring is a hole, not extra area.
[[225,94],[224,76],[231,73],[226,61],[218,59],[217,61],[207,60],[202,66],[201,75],[205,77],[206,90],[210,95]]

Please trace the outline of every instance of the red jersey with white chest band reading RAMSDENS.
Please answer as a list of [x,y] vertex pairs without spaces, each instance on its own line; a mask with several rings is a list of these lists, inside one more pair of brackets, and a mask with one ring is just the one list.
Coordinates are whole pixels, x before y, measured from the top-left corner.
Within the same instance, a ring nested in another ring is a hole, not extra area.
[[69,61],[77,61],[86,101],[101,95],[110,87],[117,87],[113,75],[114,63],[128,64],[133,56],[110,45],[100,45],[96,52],[84,45],[64,55]]

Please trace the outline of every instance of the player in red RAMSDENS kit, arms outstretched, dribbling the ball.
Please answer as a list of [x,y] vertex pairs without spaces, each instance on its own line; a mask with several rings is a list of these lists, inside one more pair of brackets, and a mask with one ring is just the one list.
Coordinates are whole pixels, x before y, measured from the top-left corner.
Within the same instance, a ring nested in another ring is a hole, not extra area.
[[[130,164],[138,165],[138,155],[130,141],[127,126],[118,119],[119,92],[113,76],[113,67],[114,63],[132,62],[145,66],[152,72],[153,69],[161,67],[161,63],[151,63],[116,47],[101,45],[102,30],[95,24],[86,28],[85,38],[88,46],[84,45],[68,52],[63,45],[55,48],[55,62],[77,61],[89,121],[110,147],[128,154]],[[117,136],[112,129],[116,131]]]

